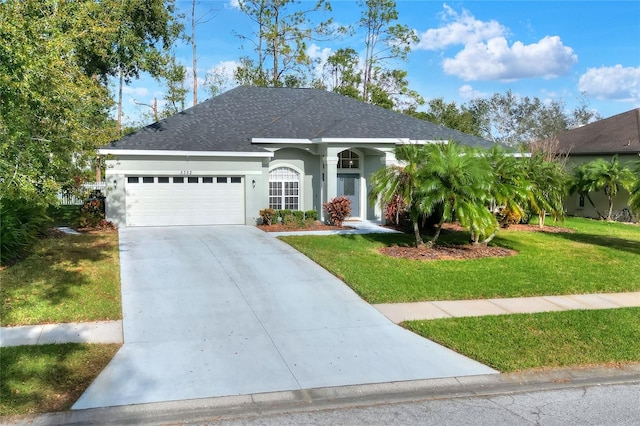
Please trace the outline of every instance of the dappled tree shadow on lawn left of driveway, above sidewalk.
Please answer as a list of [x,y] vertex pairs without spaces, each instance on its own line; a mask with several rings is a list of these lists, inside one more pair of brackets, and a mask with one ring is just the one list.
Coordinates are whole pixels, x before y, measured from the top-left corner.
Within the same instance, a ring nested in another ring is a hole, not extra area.
[[64,235],[40,241],[29,257],[2,272],[4,319],[11,323],[12,310],[23,309],[34,298],[51,306],[82,303],[72,290],[95,284],[84,265],[108,260],[114,250],[117,251],[117,244],[100,234]]

